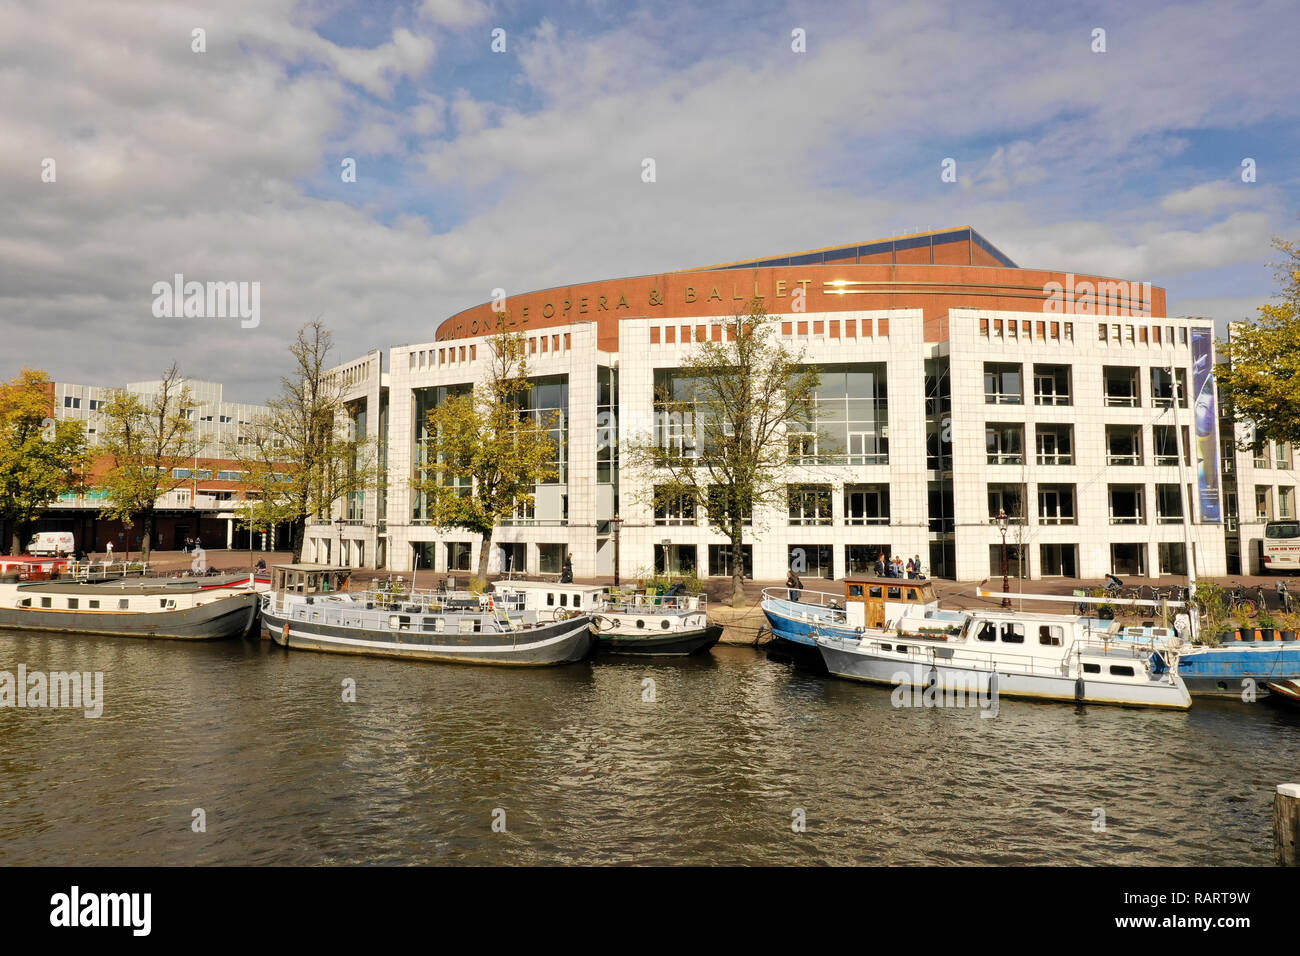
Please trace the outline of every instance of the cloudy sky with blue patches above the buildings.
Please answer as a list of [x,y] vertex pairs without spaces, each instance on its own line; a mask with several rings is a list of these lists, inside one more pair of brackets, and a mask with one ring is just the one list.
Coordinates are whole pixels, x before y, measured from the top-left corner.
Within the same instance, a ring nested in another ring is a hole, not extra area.
[[[494,287],[966,224],[1242,319],[1300,238],[1297,49],[1295,0],[0,0],[0,376],[261,402],[317,316],[342,362]],[[176,273],[260,325],[155,317]]]

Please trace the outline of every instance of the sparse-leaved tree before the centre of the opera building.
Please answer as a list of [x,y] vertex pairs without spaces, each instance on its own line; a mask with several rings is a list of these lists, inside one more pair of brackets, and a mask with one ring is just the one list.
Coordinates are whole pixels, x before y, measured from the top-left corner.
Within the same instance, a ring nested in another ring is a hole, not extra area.
[[680,388],[655,395],[654,433],[625,445],[629,466],[651,477],[642,497],[656,509],[686,502],[731,540],[737,606],[745,600],[745,525],[759,509],[785,501],[789,457],[806,451],[786,440],[811,440],[820,381],[802,351],[774,336],[762,299],[724,319],[722,341],[701,341],[685,360]]

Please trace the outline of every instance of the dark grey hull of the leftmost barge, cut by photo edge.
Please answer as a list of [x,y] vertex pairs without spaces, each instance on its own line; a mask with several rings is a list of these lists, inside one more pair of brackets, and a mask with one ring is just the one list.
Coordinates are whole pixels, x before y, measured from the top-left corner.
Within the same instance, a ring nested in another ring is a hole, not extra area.
[[0,607],[0,628],[92,637],[211,641],[250,633],[257,607],[254,593],[230,594],[196,607],[156,613]]

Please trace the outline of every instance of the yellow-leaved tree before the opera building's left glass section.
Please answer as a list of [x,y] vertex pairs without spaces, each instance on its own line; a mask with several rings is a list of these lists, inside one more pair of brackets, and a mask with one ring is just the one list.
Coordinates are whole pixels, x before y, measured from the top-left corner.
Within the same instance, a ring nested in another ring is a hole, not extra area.
[[448,395],[429,412],[425,463],[412,481],[436,527],[478,535],[480,584],[488,579],[493,529],[508,515],[532,509],[537,485],[555,476],[562,450],[552,434],[560,414],[542,419],[528,408],[533,386],[525,338],[504,332],[504,325],[498,324],[488,339],[486,381]]

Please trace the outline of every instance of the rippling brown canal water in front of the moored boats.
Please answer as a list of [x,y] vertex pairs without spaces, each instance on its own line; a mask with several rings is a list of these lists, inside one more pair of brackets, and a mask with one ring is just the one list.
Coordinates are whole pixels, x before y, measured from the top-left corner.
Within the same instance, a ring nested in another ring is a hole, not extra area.
[[983,718],[745,648],[516,671],[0,633],[20,663],[103,671],[104,711],[0,709],[3,865],[1270,865],[1300,780],[1297,710]]

